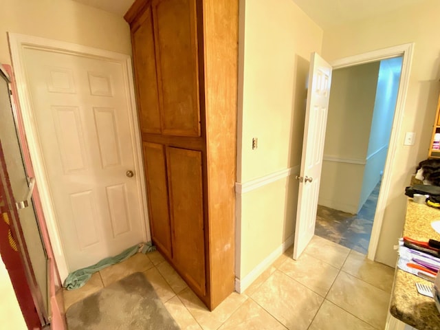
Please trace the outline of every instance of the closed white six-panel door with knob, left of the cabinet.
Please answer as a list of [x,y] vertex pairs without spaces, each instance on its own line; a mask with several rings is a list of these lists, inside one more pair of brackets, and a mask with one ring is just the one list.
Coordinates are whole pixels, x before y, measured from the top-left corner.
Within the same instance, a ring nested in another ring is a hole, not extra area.
[[32,47],[23,62],[69,272],[144,241],[121,63]]

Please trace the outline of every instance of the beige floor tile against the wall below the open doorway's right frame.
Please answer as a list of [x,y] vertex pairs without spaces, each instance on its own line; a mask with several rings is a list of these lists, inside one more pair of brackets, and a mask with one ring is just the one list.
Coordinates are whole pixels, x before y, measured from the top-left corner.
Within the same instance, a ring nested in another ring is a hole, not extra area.
[[365,254],[351,251],[342,270],[386,292],[393,289],[394,269],[367,259]]

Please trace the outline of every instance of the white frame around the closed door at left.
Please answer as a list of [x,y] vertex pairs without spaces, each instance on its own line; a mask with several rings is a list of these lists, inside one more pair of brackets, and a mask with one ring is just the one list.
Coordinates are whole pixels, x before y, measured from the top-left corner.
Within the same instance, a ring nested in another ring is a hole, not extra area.
[[23,50],[27,47],[44,50],[48,52],[59,52],[64,54],[74,54],[76,56],[86,56],[97,60],[112,61],[119,63],[124,71],[124,84],[128,87],[126,95],[129,104],[129,124],[131,127],[131,139],[135,142],[135,150],[133,150],[135,160],[135,170],[139,175],[137,190],[142,199],[141,217],[142,230],[145,241],[151,240],[150,228],[148,225],[148,210],[146,206],[146,186],[144,180],[144,165],[142,160],[142,146],[140,128],[137,118],[137,110],[135,103],[135,92],[133,86],[133,71],[131,67],[131,57],[126,54],[109,52],[107,50],[98,50],[93,47],[87,47],[74,43],[66,43],[63,41],[54,41],[50,39],[40,38],[36,36],[27,36],[24,34],[15,34],[8,32],[10,52],[14,74],[17,81],[17,89],[19,94],[19,102],[21,105],[21,113],[23,115],[23,124],[25,127],[26,139],[28,140],[30,157],[34,166],[36,184],[39,187],[41,195],[41,204],[49,232],[52,250],[54,250],[54,258],[60,273],[61,281],[69,274],[61,234],[58,228],[58,221],[54,212],[54,201],[50,195],[48,175],[43,162],[43,149],[39,143],[39,137],[36,130],[36,121],[34,119],[34,110],[30,98],[30,89],[26,83],[25,62]]

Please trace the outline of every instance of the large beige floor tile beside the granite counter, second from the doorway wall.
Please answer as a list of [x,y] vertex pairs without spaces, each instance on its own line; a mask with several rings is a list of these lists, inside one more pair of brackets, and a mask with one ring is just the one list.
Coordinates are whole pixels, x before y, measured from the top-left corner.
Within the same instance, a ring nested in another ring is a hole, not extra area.
[[340,272],[326,299],[376,329],[385,327],[390,294],[359,278]]

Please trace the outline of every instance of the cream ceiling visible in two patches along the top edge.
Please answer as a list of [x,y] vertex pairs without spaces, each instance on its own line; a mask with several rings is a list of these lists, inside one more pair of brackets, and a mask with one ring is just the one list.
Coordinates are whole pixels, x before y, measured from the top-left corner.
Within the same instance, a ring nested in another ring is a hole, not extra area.
[[[74,0],[123,17],[134,0]],[[219,0],[223,1],[223,0]],[[243,0],[241,0],[243,1]],[[426,0],[292,0],[322,29],[393,12]]]

